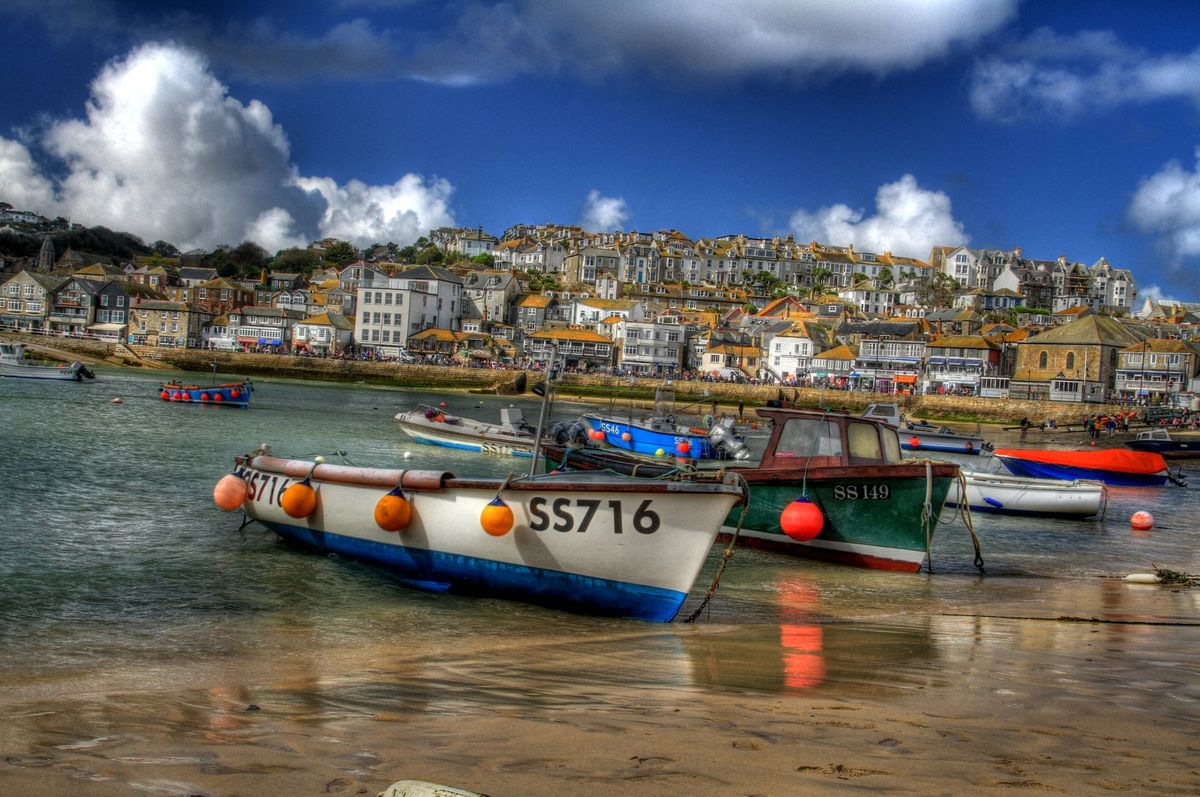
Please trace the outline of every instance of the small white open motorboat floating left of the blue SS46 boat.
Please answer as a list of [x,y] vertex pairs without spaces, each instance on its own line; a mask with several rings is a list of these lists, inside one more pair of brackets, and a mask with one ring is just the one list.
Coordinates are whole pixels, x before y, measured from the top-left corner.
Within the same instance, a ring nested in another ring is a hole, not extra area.
[[420,406],[397,413],[400,429],[419,443],[499,456],[532,456],[536,430],[516,407],[500,409],[500,423],[451,415],[439,407]]

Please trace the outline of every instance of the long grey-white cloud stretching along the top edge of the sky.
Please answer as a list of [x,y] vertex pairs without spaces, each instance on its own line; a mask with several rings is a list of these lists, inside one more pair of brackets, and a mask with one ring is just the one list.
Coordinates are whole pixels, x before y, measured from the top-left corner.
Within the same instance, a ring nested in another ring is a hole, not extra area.
[[997,30],[1016,0],[516,0],[469,4],[414,41],[410,70],[450,84],[571,71],[804,79],[914,68]]

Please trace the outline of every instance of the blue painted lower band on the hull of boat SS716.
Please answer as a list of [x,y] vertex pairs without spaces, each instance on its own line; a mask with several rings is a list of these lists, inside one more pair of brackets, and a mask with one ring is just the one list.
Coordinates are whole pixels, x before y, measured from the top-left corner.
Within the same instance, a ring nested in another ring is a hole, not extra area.
[[[511,598],[584,615],[668,622],[686,593],[524,564],[388,545],[287,523],[263,522],[281,537],[320,551],[378,564],[421,589]],[[481,532],[482,533],[482,532]]]

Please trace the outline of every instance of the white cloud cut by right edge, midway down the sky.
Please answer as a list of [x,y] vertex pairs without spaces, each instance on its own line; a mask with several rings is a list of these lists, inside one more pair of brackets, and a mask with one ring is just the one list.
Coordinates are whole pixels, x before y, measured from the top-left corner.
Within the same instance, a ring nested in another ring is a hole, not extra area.
[[1189,172],[1178,161],[1163,166],[1138,186],[1129,203],[1129,221],[1158,235],[1176,264],[1200,254],[1200,148]]

